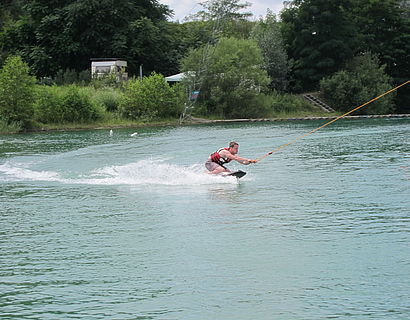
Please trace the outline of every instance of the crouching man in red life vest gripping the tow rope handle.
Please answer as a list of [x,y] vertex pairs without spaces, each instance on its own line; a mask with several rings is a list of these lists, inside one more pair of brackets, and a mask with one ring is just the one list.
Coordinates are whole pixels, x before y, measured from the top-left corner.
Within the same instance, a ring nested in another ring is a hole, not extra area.
[[210,174],[218,174],[221,172],[231,172],[224,165],[235,160],[241,164],[248,165],[250,163],[256,163],[256,160],[245,159],[237,156],[239,144],[235,141],[229,143],[229,148],[221,148],[212,153],[208,160],[205,162],[205,167],[209,170]]

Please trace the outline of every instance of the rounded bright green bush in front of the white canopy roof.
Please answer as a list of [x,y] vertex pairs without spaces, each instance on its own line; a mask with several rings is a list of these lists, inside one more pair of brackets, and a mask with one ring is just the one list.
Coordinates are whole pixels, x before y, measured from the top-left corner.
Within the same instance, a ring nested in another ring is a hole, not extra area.
[[162,75],[155,73],[142,80],[129,80],[119,111],[126,118],[143,121],[178,117],[182,111],[179,90],[179,87],[171,88]]

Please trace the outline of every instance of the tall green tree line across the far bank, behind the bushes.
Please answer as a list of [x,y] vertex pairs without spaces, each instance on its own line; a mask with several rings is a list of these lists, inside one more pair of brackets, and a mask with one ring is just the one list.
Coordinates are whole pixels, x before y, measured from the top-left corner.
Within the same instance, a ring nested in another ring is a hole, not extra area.
[[[187,21],[171,22],[172,10],[156,0],[5,0],[0,65],[20,56],[37,79],[56,79],[89,69],[90,58],[120,57],[131,75],[142,65],[148,76],[200,72],[206,56],[199,102],[204,113],[225,117],[254,108],[263,114],[268,95],[316,90],[343,109],[366,98],[363,88],[377,93],[408,80],[408,1],[294,0],[279,16],[268,11],[259,19],[239,0],[202,6]],[[409,88],[394,103],[410,112]]]

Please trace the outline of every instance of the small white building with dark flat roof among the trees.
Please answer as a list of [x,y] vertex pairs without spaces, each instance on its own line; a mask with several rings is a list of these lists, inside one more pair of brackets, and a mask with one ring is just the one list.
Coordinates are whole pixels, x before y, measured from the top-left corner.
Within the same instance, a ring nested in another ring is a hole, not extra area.
[[117,81],[128,80],[127,61],[119,58],[91,58],[91,78],[115,75]]

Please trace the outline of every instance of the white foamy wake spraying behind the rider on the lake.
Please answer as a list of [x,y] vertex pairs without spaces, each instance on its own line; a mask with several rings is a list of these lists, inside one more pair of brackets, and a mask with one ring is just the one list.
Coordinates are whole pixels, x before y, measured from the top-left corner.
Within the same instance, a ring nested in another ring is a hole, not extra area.
[[140,160],[112,165],[85,173],[37,171],[27,164],[0,165],[0,181],[48,181],[90,185],[204,185],[237,183],[234,177],[209,175],[202,165],[184,167],[163,160]]

